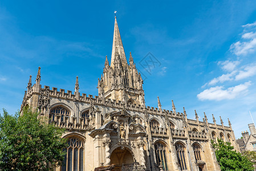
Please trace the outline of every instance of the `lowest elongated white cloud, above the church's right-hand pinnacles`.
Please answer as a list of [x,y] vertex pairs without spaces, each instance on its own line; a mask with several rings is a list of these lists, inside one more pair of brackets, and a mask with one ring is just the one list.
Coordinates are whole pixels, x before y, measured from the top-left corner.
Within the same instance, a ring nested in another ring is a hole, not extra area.
[[224,99],[234,99],[241,93],[247,92],[248,87],[251,82],[246,82],[244,84],[239,84],[238,86],[229,87],[224,89],[222,86],[211,87],[205,89],[197,95],[199,100],[224,100]]

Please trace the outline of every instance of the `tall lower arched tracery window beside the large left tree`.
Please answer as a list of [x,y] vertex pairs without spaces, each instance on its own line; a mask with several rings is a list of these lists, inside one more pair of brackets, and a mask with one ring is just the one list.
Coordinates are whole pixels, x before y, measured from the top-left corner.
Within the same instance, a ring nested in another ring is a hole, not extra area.
[[63,149],[67,154],[62,164],[62,171],[83,171],[84,143],[76,137],[71,137],[67,143],[68,147]]

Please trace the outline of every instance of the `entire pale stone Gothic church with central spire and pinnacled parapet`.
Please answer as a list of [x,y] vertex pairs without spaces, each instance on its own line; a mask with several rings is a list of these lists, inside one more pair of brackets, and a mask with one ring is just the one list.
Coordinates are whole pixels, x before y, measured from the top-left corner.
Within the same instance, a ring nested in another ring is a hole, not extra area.
[[[98,80],[99,96],[55,87],[42,87],[40,67],[36,82],[31,76],[21,109],[29,105],[66,128],[68,139],[64,165],[56,170],[220,170],[210,140],[230,141],[239,150],[234,132],[222,119],[217,125],[204,119],[188,119],[184,111],[147,107],[143,79],[131,53],[129,63],[115,18],[111,63],[105,58],[103,75]],[[160,166],[160,167],[159,167]],[[99,169],[99,168],[98,168]]]

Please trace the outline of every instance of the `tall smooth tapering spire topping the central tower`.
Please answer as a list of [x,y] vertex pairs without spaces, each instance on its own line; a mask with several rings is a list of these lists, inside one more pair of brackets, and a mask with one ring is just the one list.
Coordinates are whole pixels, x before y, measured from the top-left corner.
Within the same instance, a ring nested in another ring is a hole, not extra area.
[[117,25],[116,17],[115,17],[115,28],[114,28],[114,35],[113,35],[113,46],[112,46],[112,55],[111,55],[111,67],[114,67],[114,60],[115,60],[115,53],[120,55],[121,63],[123,66],[127,66],[127,59],[124,53],[124,47],[121,40],[119,28]]

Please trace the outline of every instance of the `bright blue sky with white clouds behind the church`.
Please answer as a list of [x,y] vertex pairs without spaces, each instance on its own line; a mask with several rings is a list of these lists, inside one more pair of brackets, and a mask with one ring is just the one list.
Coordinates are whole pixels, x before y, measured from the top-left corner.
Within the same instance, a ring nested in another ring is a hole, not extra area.
[[[235,136],[256,120],[254,1],[0,1],[0,107],[20,108],[38,67],[42,86],[97,95],[105,55],[111,59],[114,11],[124,50],[144,78],[146,104],[212,123]],[[151,52],[160,64],[140,65]]]

